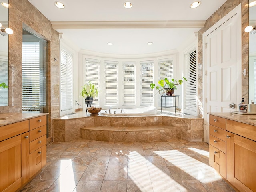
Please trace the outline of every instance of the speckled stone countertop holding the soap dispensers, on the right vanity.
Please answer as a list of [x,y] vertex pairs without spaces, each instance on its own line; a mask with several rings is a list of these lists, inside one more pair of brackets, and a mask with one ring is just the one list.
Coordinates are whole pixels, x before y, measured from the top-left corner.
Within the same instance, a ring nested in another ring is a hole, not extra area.
[[256,126],[256,115],[242,115],[242,114],[236,114],[236,113],[209,113],[209,114]]

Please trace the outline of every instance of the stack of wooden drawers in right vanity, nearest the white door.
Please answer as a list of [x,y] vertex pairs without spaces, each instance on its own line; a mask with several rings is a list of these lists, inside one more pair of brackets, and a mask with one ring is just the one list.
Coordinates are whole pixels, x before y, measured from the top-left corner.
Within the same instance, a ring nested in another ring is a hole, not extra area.
[[209,164],[226,178],[226,118],[210,115]]

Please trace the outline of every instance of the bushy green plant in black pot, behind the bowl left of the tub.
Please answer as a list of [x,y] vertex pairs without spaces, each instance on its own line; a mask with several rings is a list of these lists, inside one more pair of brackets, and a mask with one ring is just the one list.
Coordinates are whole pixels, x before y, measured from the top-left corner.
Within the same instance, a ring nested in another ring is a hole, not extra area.
[[99,93],[99,89],[89,81],[87,84],[82,86],[82,90],[80,95],[85,98],[85,104],[90,106],[93,102],[93,98],[97,97]]

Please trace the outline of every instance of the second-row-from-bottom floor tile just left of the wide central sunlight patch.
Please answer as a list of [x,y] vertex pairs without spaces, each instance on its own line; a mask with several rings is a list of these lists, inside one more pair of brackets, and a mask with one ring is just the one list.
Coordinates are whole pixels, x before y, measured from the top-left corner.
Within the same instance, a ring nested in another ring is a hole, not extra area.
[[127,166],[108,166],[104,180],[127,180]]

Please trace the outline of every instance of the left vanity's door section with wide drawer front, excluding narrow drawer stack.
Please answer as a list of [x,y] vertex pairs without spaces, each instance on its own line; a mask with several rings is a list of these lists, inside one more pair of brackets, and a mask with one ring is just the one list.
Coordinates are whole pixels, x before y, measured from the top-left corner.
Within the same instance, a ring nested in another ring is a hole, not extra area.
[[[0,191],[13,192],[28,180],[28,121],[0,126]],[[24,132],[27,131],[27,132]],[[18,134],[23,132],[22,134]]]

